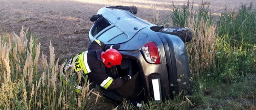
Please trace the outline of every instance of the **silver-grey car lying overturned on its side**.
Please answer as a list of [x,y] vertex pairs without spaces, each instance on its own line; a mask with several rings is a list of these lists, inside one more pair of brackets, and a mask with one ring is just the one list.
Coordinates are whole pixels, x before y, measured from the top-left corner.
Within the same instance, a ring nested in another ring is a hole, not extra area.
[[[184,42],[192,32],[184,27],[158,26],[134,14],[136,7],[111,6],[101,8],[91,17],[95,22],[89,32],[89,42],[120,44],[121,65],[107,68],[113,78],[132,76],[123,87],[104,95],[115,101],[122,96],[131,101],[170,99],[182,91],[191,92],[191,75]],[[121,94],[121,95],[120,95]]]

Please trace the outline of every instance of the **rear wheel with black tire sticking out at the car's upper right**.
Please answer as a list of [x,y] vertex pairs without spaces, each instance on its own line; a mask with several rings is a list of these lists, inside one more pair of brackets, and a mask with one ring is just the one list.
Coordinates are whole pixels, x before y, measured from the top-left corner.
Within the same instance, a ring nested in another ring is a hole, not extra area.
[[166,27],[160,29],[159,32],[176,35],[182,39],[184,43],[191,41],[193,37],[192,31],[186,27]]

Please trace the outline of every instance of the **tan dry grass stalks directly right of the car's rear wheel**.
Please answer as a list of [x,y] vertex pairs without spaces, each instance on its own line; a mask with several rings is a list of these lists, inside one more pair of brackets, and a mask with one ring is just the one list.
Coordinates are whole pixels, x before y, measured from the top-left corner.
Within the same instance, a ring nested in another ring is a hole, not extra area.
[[186,43],[192,75],[200,76],[206,70],[216,68],[216,26],[204,18],[188,17],[187,27],[193,31],[193,39]]

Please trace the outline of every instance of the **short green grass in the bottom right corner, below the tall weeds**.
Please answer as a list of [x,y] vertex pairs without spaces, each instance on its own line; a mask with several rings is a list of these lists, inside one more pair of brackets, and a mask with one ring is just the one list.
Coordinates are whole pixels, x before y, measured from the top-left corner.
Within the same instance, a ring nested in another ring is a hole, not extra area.
[[190,96],[195,107],[189,109],[249,110],[255,107],[255,75],[247,74],[232,84],[206,76],[200,79],[199,89]]

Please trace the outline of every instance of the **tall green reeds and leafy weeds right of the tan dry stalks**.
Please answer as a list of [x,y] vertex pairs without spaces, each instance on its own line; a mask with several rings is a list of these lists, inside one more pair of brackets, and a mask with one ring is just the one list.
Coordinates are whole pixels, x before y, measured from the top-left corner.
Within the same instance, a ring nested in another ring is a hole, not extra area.
[[224,12],[219,17],[218,73],[227,83],[255,72],[255,11],[241,5],[238,13]]

